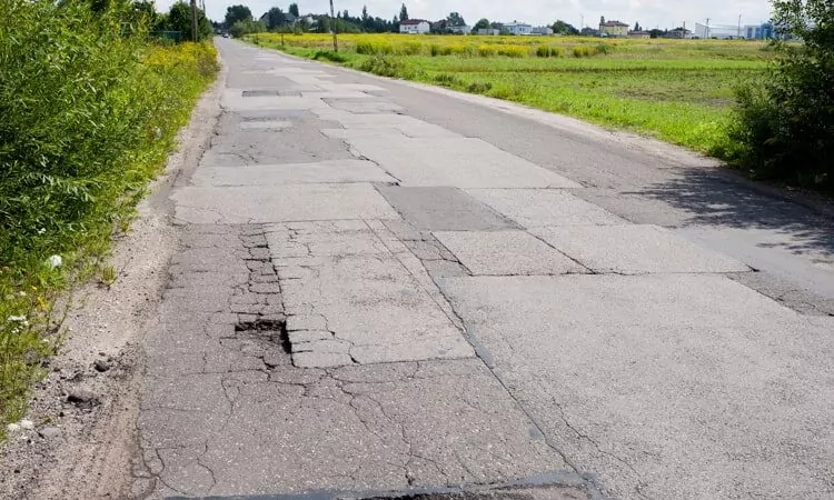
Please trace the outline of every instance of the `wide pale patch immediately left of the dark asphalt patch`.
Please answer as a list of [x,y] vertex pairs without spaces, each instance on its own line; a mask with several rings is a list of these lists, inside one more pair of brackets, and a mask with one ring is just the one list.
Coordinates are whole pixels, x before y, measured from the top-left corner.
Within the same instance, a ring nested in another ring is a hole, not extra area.
[[365,183],[188,187],[171,198],[176,203],[176,218],[190,223],[399,218],[385,199]]

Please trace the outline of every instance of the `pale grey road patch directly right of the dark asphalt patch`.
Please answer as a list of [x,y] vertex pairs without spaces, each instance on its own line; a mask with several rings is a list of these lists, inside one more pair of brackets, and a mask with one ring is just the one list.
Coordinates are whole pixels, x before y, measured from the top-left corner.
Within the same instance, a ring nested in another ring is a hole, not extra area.
[[558,189],[469,189],[466,192],[525,228],[626,223],[607,210]]

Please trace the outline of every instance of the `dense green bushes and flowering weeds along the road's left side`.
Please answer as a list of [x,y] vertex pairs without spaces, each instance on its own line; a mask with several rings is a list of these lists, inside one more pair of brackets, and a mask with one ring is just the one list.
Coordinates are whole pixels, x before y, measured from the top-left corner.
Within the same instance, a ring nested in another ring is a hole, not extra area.
[[106,266],[215,79],[210,43],[163,47],[86,2],[0,7],[0,440],[58,347],[54,303]]

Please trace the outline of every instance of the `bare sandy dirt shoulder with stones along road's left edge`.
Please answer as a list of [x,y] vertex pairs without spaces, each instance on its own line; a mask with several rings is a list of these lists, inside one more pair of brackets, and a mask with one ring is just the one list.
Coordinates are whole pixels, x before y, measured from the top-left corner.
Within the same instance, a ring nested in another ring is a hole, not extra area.
[[202,96],[165,174],[138,207],[131,230],[115,242],[117,281],[109,288],[88,283],[69,298],[67,339],[34,388],[24,419],[33,426],[24,423],[0,451],[0,498],[141,494],[130,491],[145,368],[140,340],[157,321],[167,264],[179,246],[168,192],[188,178],[208,147],[225,79],[224,70]]

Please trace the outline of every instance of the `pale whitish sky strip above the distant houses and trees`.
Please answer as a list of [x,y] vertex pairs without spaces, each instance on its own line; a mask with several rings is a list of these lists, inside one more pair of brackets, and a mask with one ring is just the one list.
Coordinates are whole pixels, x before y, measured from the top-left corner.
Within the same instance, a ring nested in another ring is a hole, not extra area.
[[[177,0],[156,0],[157,9],[168,10]],[[198,0],[200,1],[200,0]],[[391,19],[399,13],[403,0],[334,0],[337,10],[348,10],[350,16],[359,16],[363,4],[368,6],[368,13],[374,17]],[[234,3],[248,6],[258,18],[271,7],[285,11],[290,0],[205,0],[210,19],[221,21],[226,8]],[[445,18],[450,11],[458,11],[468,24],[480,18],[490,21],[528,22],[534,26],[552,24],[562,19],[579,27],[584,17],[585,24],[596,27],[599,17],[606,20],[619,20],[634,27],[639,22],[645,29],[676,28],[683,22],[693,27],[695,22],[709,24],[736,26],[738,16],[742,24],[758,24],[770,18],[768,0],[481,0],[479,2],[457,0],[406,0],[410,18],[436,21]],[[328,0],[298,0],[301,13],[325,13],[329,11]]]

